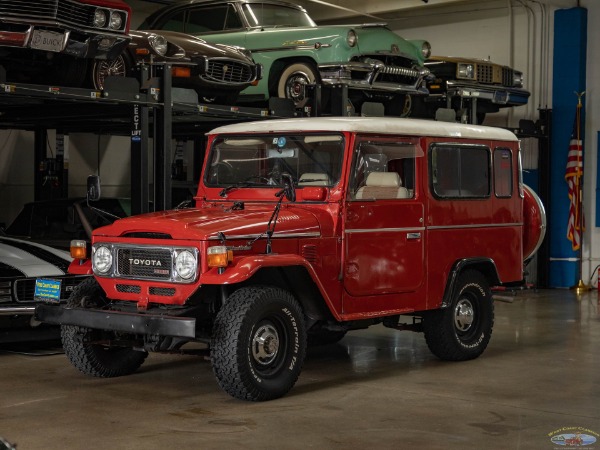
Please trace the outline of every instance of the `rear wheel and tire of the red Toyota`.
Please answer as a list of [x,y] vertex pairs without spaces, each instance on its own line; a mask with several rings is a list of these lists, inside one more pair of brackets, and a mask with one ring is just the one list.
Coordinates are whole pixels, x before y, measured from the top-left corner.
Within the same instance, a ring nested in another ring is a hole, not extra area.
[[494,326],[494,303],[488,283],[477,271],[465,271],[452,304],[424,317],[423,331],[431,352],[440,359],[477,358],[487,347]]

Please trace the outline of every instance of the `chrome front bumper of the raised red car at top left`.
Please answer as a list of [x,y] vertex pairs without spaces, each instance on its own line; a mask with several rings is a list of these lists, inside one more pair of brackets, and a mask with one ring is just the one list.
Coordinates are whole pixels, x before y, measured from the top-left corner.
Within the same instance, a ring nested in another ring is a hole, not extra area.
[[[26,48],[35,51],[52,51],[76,58],[96,58],[96,59],[114,59],[129,44],[129,37],[119,34],[93,34],[83,31],[64,30],[61,28],[52,29],[55,36],[62,36],[62,43],[58,44],[53,50],[37,48],[34,25],[10,27],[0,22],[0,45],[6,47]],[[40,30],[50,31],[50,30]]]

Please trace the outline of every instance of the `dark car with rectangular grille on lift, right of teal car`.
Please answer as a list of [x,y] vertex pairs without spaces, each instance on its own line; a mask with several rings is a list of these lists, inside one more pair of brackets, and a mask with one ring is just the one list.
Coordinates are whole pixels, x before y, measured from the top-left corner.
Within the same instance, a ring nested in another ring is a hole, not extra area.
[[435,118],[439,108],[449,108],[457,118],[482,123],[487,113],[526,105],[529,91],[523,88],[523,72],[488,60],[431,56],[425,62],[432,77],[429,95],[411,98],[413,117]]

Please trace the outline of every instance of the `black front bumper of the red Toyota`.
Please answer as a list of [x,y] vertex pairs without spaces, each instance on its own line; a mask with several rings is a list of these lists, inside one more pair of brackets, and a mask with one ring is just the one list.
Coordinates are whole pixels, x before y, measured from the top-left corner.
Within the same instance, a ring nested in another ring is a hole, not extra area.
[[141,335],[196,337],[196,319],[40,304],[35,318],[56,325],[74,325]]

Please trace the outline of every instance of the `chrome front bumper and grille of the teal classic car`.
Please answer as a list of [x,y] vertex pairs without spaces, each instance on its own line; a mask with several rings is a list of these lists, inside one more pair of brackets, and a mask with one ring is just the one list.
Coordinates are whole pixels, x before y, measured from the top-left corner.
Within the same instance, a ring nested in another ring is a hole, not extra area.
[[324,85],[343,84],[352,89],[389,93],[427,94],[422,87],[428,69],[351,61],[345,64],[320,64]]

